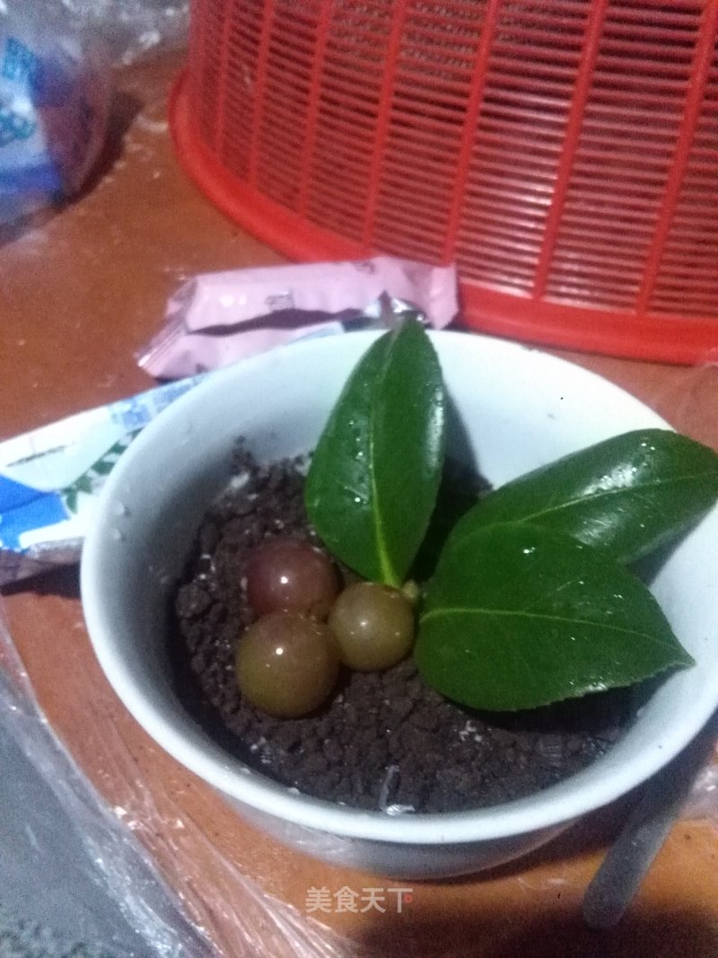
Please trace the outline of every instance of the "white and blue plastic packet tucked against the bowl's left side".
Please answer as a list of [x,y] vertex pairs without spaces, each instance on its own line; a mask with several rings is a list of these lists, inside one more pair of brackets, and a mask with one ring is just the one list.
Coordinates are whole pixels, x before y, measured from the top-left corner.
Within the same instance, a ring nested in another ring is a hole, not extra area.
[[0,443],[0,586],[79,560],[123,450],[198,381],[168,383]]

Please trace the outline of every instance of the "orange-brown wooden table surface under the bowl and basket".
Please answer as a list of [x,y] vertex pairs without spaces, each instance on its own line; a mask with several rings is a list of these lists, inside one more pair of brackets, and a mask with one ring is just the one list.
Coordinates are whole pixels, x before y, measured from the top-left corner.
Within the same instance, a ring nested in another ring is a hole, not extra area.
[[[0,247],[0,439],[151,385],[133,354],[188,277],[280,262],[215,211],[178,167],[167,123],[178,66],[176,58],[159,59],[119,76],[107,154],[85,194]],[[718,449],[715,365],[568,358]],[[57,734],[226,955],[718,954],[718,818],[674,827],[616,930],[582,924],[581,897],[615,832],[617,808],[491,874],[415,882],[401,914],[388,897],[383,913],[308,916],[312,887],[362,893],[392,883],[288,851],[156,747],[95,661],[77,570],[26,583],[4,606]]]

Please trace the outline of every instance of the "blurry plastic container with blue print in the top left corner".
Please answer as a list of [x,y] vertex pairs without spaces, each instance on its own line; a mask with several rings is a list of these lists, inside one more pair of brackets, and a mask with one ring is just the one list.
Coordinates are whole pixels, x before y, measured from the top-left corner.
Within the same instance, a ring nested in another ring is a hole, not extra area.
[[0,7],[0,223],[77,194],[112,96],[101,45],[43,3]]

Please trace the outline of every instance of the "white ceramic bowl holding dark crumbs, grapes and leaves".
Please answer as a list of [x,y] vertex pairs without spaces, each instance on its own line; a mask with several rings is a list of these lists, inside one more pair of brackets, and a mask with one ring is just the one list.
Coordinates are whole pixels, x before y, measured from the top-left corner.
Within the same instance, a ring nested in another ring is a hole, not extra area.
[[[263,461],[311,449],[373,333],[263,354],[178,399],[124,453],[82,557],[87,626],[109,681],[170,755],[280,840],[395,878],[478,871],[523,855],[669,761],[718,705],[718,511],[673,551],[652,588],[696,659],[671,675],[611,751],[531,797],[452,814],[388,816],[292,793],[230,756],[175,695],[165,652],[168,592],[202,513],[229,478],[238,436]],[[433,334],[469,456],[494,484],[639,427],[667,427],[570,363],[478,335]]]

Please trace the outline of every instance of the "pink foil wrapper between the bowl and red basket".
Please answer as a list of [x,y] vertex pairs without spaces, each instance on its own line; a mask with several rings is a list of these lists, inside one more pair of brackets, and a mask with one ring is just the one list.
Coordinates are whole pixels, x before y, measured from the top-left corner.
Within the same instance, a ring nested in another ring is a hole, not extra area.
[[137,360],[163,378],[220,369],[308,335],[384,325],[382,296],[441,329],[459,311],[456,266],[377,256],[197,276],[168,301]]

